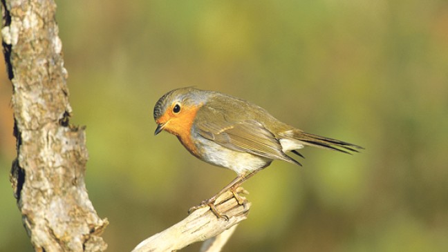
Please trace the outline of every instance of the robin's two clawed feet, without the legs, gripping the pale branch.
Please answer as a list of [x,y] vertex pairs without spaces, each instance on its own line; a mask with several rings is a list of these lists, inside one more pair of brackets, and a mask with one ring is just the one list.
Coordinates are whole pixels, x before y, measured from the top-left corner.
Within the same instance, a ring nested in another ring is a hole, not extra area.
[[246,202],[248,201],[245,200],[245,198],[241,197],[239,193],[248,194],[249,192],[245,191],[245,189],[242,187],[230,188],[228,191],[225,191],[224,193],[218,193],[213,197],[209,198],[208,200],[203,200],[203,202],[200,202],[198,206],[192,206],[188,210],[188,214],[208,206],[210,208],[210,211],[212,211],[212,213],[214,213],[216,217],[229,220],[229,216],[223,214],[221,211],[218,211],[218,209],[216,209],[216,206],[223,204],[223,202],[226,202],[227,200],[230,200],[233,197],[239,205],[244,206],[245,208]]

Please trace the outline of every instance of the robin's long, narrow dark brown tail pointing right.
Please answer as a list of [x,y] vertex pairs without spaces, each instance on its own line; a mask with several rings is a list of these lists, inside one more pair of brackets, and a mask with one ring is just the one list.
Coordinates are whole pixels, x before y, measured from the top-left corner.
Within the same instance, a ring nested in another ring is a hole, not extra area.
[[358,150],[364,149],[355,144],[350,144],[329,137],[321,137],[319,135],[304,133],[303,131],[295,132],[293,137],[304,145],[314,146],[317,148],[326,148],[328,150],[339,151],[347,154],[352,154],[351,152],[357,153],[359,152]]

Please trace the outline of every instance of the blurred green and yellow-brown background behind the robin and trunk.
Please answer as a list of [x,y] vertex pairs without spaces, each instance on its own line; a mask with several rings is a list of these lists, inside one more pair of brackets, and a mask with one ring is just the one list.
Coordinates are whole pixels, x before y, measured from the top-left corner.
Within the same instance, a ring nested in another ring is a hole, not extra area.
[[[158,98],[194,85],[366,148],[306,148],[303,168],[274,162],[253,177],[249,218],[224,251],[448,251],[447,1],[57,5],[108,251],[131,251],[234,178],[153,136]],[[12,88],[0,78],[0,251],[32,251],[8,182]]]

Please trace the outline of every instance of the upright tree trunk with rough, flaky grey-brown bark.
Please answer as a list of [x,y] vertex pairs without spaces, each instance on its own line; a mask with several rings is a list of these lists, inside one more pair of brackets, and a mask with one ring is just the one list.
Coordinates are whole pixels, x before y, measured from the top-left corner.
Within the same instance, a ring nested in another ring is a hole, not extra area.
[[10,180],[35,251],[104,251],[88,199],[84,128],[69,124],[67,71],[51,0],[1,0],[17,159]]

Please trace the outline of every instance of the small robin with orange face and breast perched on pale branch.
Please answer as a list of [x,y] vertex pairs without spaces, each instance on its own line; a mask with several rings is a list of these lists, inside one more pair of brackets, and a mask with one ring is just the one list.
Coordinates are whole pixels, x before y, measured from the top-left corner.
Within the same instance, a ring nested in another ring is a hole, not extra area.
[[298,150],[305,146],[349,154],[362,149],[348,142],[305,133],[250,101],[192,86],[165,93],[156,102],[153,117],[157,124],[154,135],[163,130],[176,135],[198,159],[237,174],[216,195],[192,208],[210,206],[217,217],[223,215],[214,207],[216,197],[230,190],[241,203],[236,188],[272,161],[283,160],[301,166],[297,159],[286,155],[288,152],[304,157]]

